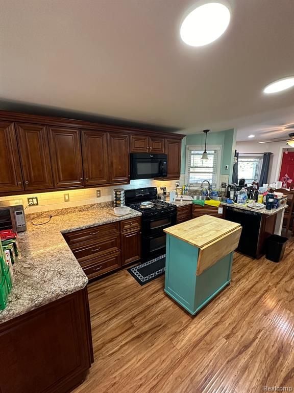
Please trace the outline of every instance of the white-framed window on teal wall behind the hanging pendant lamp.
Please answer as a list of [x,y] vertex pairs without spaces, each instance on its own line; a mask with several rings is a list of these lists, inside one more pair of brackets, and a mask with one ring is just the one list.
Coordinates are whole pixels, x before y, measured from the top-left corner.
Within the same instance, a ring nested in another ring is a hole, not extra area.
[[217,187],[220,149],[221,146],[208,145],[206,148],[208,160],[201,160],[203,147],[187,145],[185,183],[199,187],[204,180],[208,180],[212,187]]

